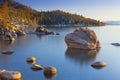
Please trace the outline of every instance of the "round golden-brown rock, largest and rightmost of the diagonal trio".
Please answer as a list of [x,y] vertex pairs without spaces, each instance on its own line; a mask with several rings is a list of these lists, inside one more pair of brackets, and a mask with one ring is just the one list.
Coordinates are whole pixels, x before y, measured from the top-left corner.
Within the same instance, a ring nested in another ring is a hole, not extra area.
[[44,68],[44,76],[46,78],[54,78],[56,77],[57,69],[55,67],[46,67]]

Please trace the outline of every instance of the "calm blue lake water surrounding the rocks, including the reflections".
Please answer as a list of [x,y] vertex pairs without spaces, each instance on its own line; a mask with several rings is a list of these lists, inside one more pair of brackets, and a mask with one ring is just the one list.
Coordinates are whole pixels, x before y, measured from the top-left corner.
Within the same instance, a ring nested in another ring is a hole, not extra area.
[[[99,51],[80,51],[67,49],[64,41],[66,34],[75,28],[50,28],[60,35],[19,37],[15,42],[0,40],[0,52],[14,50],[11,55],[0,53],[0,69],[20,71],[21,80],[120,80],[120,47],[111,45],[120,42],[120,26],[91,27],[102,48]],[[28,57],[36,57],[37,64],[54,66],[57,75],[46,78],[43,71],[32,71]],[[94,69],[90,65],[96,61],[105,61],[107,67]]]

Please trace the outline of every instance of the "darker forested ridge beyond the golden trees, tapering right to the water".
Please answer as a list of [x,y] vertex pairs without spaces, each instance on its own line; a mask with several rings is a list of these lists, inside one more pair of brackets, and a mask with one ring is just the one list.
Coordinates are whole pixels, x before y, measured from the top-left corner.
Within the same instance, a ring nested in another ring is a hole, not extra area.
[[99,20],[85,18],[77,14],[71,14],[61,10],[39,12],[35,14],[38,20],[38,24],[45,25],[79,25],[79,26],[103,26],[104,23]]

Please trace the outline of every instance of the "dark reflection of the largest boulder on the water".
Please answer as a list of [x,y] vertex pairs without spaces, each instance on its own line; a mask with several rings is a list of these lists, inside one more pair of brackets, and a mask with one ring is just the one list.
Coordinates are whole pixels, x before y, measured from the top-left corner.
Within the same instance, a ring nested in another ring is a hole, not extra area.
[[66,50],[66,57],[79,62],[81,65],[89,64],[96,59],[99,50],[80,50],[80,49],[71,49]]

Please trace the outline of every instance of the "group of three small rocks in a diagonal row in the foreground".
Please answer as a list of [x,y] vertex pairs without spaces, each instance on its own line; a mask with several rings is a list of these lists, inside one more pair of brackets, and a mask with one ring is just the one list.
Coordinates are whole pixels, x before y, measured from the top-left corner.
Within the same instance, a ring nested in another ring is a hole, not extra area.
[[57,73],[57,69],[55,67],[43,67],[41,65],[36,64],[36,58],[35,57],[29,57],[26,60],[28,63],[31,63],[31,69],[33,71],[43,70],[43,73],[46,78],[54,78]]

